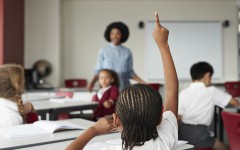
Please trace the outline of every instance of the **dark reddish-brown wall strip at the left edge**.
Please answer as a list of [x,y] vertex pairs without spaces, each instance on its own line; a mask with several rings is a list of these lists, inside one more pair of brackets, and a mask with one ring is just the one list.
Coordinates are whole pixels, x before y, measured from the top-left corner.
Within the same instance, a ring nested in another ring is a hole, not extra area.
[[24,61],[24,0],[0,1],[0,64]]

